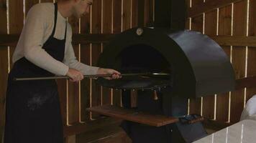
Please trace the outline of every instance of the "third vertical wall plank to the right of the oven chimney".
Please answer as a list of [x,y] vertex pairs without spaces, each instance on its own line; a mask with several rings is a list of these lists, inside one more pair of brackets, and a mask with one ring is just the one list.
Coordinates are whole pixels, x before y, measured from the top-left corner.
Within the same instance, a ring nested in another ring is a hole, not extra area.
[[[231,35],[232,6],[219,9],[219,35]],[[222,46],[226,54],[230,55],[230,46]],[[217,94],[216,120],[227,122],[229,120],[229,93]]]

